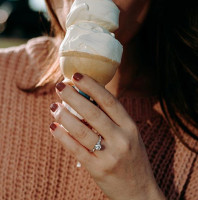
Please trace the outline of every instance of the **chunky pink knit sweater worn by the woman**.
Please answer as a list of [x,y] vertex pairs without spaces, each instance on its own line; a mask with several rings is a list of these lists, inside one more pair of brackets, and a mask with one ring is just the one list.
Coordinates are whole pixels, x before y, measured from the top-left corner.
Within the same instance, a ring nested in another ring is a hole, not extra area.
[[[76,159],[49,133],[55,92],[24,93],[45,71],[55,48],[48,37],[0,50],[0,200],[105,200]],[[40,72],[40,73],[38,73]],[[198,200],[198,141],[172,134],[156,97],[126,94],[120,102],[137,123],[157,183],[168,199]]]

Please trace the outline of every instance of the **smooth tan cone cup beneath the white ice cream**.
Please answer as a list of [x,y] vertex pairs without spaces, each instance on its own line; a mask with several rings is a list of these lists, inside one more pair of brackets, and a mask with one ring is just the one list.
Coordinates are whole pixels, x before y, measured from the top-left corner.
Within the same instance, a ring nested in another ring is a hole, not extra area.
[[70,51],[61,52],[60,66],[63,75],[69,79],[79,72],[105,86],[113,78],[119,63],[99,55]]

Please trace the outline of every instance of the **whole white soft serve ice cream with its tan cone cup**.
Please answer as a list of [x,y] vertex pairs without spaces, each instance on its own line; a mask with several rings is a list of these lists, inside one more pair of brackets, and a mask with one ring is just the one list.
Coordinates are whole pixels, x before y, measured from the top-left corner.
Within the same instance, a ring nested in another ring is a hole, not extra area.
[[74,1],[60,46],[60,66],[66,78],[80,72],[103,86],[113,78],[123,51],[110,32],[118,28],[119,12],[112,0]]

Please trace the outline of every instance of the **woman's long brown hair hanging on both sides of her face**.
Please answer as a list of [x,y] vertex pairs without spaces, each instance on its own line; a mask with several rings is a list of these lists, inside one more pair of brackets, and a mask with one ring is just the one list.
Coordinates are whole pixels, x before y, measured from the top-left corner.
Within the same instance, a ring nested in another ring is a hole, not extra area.
[[[55,37],[62,37],[63,30],[57,16],[49,0],[45,2],[51,18],[52,33]],[[188,3],[152,0],[140,31],[145,60],[155,72],[160,104],[166,118],[172,127],[179,126],[195,139],[198,136],[186,123],[198,128],[197,8],[197,2],[193,0]],[[35,88],[60,80],[57,63]],[[178,131],[175,132],[177,134]]]

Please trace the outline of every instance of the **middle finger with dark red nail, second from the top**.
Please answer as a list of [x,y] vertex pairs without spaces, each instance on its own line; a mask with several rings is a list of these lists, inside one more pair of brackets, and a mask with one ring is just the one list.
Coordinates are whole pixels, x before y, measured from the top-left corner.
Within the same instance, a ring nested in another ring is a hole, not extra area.
[[69,104],[79,113],[95,130],[104,138],[112,137],[109,135],[116,132],[116,124],[97,106],[80,95],[73,87],[68,84],[60,83],[57,85],[60,98]]

